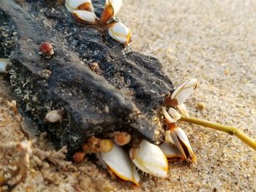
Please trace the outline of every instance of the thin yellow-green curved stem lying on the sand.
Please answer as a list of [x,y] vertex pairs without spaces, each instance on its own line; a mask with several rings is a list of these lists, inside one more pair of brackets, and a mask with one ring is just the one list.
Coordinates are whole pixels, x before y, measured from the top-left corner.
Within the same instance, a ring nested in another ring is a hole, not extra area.
[[218,131],[223,131],[230,135],[235,135],[238,139],[245,142],[246,145],[249,145],[249,147],[252,147],[254,150],[256,150],[256,141],[251,137],[246,136],[246,134],[244,134],[238,128],[234,128],[232,126],[223,126],[222,124],[212,123],[211,121],[201,120],[199,118],[185,118],[184,116],[182,116],[180,120],[186,121],[188,123],[194,123],[200,126],[205,126],[208,128],[214,128]]

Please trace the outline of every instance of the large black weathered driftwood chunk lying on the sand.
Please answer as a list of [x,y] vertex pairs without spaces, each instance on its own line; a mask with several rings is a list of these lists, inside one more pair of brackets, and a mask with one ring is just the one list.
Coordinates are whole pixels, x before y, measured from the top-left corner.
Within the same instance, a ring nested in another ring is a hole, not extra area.
[[[93,2],[99,15],[104,2]],[[67,145],[72,154],[89,136],[104,137],[115,130],[151,142],[162,137],[162,127],[153,118],[173,85],[156,58],[133,52],[105,31],[76,23],[54,1],[25,1],[20,6],[1,0],[0,10],[1,18],[7,17],[17,31],[10,73],[19,104],[59,147]],[[55,47],[52,58],[39,54],[46,40]],[[93,63],[101,74],[91,71]],[[47,111],[61,108],[61,122],[47,123]]]

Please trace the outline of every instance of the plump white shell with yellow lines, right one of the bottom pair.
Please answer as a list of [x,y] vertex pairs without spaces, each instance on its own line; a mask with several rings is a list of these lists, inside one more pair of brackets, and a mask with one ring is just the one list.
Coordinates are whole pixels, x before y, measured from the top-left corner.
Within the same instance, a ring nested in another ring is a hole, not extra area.
[[167,176],[167,158],[157,145],[153,145],[144,139],[139,147],[129,150],[129,156],[141,171],[152,174],[155,177]]

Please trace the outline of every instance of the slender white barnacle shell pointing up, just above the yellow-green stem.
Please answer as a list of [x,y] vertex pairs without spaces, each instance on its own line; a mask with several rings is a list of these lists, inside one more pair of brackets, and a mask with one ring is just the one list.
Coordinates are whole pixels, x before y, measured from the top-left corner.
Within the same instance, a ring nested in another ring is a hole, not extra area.
[[172,93],[171,99],[176,99],[178,105],[183,104],[197,87],[197,79],[187,80]]

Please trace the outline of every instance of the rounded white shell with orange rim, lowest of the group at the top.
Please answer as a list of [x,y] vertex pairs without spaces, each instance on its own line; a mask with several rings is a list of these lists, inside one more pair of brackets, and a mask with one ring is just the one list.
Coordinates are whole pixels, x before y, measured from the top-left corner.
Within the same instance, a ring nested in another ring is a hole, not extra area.
[[132,35],[131,31],[129,31],[129,28],[124,26],[124,24],[121,22],[115,23],[113,26],[111,26],[108,29],[108,34],[110,34],[110,37],[115,39],[117,42],[124,44],[130,42]]

